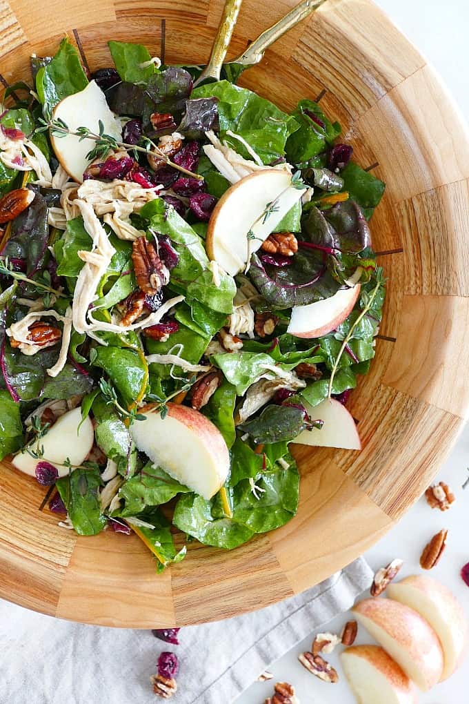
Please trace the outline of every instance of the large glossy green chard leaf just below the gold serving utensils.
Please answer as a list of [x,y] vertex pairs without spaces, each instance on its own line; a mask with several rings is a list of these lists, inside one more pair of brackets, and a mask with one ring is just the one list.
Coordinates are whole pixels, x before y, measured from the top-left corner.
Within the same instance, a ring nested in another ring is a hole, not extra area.
[[298,129],[295,118],[247,88],[240,88],[228,81],[198,86],[191,94],[191,98],[211,97],[219,101],[220,137],[229,142],[233,149],[245,158],[252,158],[243,144],[229,137],[226,130],[243,137],[264,164],[283,156],[286,140]]

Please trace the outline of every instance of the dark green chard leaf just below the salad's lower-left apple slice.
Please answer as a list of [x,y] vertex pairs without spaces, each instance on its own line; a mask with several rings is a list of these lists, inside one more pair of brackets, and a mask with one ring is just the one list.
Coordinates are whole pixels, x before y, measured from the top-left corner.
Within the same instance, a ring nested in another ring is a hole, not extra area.
[[99,503],[100,486],[98,469],[79,468],[56,482],[60,498],[79,535],[96,535],[106,524],[107,519],[102,515]]

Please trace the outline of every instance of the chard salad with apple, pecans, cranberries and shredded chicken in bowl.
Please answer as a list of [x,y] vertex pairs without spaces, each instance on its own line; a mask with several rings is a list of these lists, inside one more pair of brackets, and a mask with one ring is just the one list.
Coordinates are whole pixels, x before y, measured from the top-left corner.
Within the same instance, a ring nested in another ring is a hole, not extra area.
[[65,38],[6,92],[0,458],[61,526],[135,532],[162,570],[288,522],[290,442],[360,448],[385,187],[317,102],[109,48],[89,75]]

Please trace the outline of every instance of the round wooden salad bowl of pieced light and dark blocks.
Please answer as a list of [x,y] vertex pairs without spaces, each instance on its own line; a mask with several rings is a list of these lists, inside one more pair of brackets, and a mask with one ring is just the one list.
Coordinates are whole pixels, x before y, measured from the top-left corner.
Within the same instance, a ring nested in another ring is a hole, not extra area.
[[[229,57],[296,0],[245,0]],[[1,3],[0,80],[30,80],[29,57],[64,32],[91,70],[108,39],[167,63],[204,63],[221,0]],[[0,472],[0,596],[90,624],[194,624],[299,593],[354,560],[427,488],[468,409],[469,138],[425,59],[370,0],[328,0],[240,81],[290,111],[315,99],[342,123],[356,161],[387,189],[371,221],[388,279],[371,371],[353,392],[360,452],[293,446],[300,508],[228,552],[189,543],[163,574],[136,536],[79,537],[43,508],[44,487]],[[180,538],[182,543],[182,537]],[[176,538],[176,543],[179,538]]]

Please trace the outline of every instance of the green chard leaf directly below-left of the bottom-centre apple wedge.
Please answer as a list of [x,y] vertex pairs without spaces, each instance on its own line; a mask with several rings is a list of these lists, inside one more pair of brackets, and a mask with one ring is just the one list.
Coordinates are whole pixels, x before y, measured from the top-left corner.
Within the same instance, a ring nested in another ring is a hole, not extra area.
[[122,484],[119,496],[124,499],[125,505],[117,515],[134,516],[142,513],[147,506],[167,503],[177,494],[188,494],[190,491],[161,467],[153,467],[152,463],[148,463],[138,474]]

